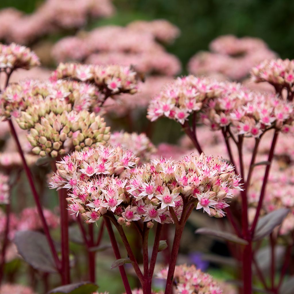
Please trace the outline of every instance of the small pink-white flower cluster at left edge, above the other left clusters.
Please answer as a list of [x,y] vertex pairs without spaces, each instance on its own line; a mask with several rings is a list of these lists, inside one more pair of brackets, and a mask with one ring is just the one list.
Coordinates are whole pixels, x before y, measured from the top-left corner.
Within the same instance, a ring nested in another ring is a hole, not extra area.
[[0,43],[0,69],[29,69],[39,65],[39,58],[31,49],[12,43]]

